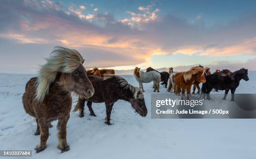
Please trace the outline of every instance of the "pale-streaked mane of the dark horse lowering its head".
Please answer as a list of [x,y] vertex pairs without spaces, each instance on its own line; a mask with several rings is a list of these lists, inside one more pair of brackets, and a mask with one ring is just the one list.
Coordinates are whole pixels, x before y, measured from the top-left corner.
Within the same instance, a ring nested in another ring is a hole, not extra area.
[[[123,77],[120,77],[118,75],[107,74],[107,75],[105,75],[105,77],[103,77],[103,81],[112,79],[112,78],[115,78],[124,90],[129,89],[132,92],[134,99],[143,99],[144,96],[143,96],[143,92],[141,91],[141,89],[129,84],[127,82],[127,80],[125,80]],[[141,92],[141,94],[138,95],[138,92]]]

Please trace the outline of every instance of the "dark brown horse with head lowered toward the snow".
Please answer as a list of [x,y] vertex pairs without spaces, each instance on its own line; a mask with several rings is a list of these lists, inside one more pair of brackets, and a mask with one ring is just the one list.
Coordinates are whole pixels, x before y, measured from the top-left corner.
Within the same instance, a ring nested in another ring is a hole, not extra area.
[[80,96],[77,102],[74,112],[79,110],[79,116],[84,117],[84,102],[87,102],[87,106],[90,111],[91,116],[95,116],[92,110],[92,102],[102,103],[105,102],[106,107],[106,118],[105,124],[111,125],[110,115],[115,102],[119,99],[125,100],[131,103],[135,112],[140,114],[142,117],[147,115],[147,107],[145,104],[143,92],[138,87],[134,87],[120,76],[117,75],[105,75],[105,77],[100,78],[97,76],[88,75],[89,80],[92,82],[95,88],[95,93],[92,97],[85,99]]

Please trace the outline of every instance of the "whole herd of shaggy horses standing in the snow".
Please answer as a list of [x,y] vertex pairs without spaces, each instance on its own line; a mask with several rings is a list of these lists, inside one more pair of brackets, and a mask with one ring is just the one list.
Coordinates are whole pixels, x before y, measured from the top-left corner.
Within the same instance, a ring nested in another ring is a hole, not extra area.
[[[40,144],[35,148],[36,153],[46,149],[46,142],[49,137],[51,122],[58,119],[58,148],[61,152],[69,150],[67,144],[67,122],[72,109],[73,92],[78,98],[74,111],[79,110],[79,116],[84,117],[84,103],[87,101],[90,115],[96,116],[92,109],[92,103],[105,103],[106,117],[105,123],[111,125],[110,115],[115,102],[119,99],[131,103],[131,106],[142,117],[147,115],[147,107],[143,96],[143,84],[154,82],[154,92],[159,92],[159,84],[167,88],[168,92],[179,95],[187,91],[189,99],[190,89],[194,85],[193,93],[197,88],[199,94],[199,84],[202,82],[201,93],[207,94],[212,89],[225,90],[225,97],[228,90],[233,94],[241,79],[248,80],[248,70],[240,69],[235,72],[229,70],[210,73],[210,68],[197,66],[192,67],[187,72],[174,72],[169,68],[169,72],[158,72],[149,67],[146,72],[136,67],[134,76],[139,83],[139,87],[134,87],[127,80],[111,69],[101,69],[94,67],[85,70],[84,59],[77,50],[65,47],[55,47],[51,56],[46,59],[46,64],[41,66],[38,77],[31,78],[23,94],[23,107],[29,115],[36,119],[37,129],[35,135],[40,136]],[[233,95],[232,95],[233,99]]]

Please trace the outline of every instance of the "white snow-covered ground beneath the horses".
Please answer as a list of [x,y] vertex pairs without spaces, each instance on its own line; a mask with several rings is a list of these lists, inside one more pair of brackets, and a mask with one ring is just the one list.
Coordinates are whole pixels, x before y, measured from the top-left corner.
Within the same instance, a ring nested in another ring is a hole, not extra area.
[[[108,126],[104,104],[93,104],[97,117],[89,116],[87,107],[83,118],[70,113],[68,152],[57,149],[54,121],[47,148],[36,154],[40,137],[34,136],[36,123],[22,104],[25,84],[33,76],[0,74],[0,150],[32,150],[29,158],[36,159],[256,159],[255,119],[151,119],[152,83],[143,84],[147,117],[135,114],[128,102],[118,101],[111,114],[114,124]],[[138,86],[132,75],[123,77]],[[241,81],[236,93],[255,93],[256,72],[249,72],[249,78]],[[160,92],[167,93],[162,86]],[[75,101],[77,97],[73,106]]]

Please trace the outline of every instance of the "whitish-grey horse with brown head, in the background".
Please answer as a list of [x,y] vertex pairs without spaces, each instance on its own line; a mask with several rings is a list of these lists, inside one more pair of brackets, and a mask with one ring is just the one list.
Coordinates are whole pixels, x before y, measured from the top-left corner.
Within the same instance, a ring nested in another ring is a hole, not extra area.
[[133,75],[139,83],[139,88],[142,89],[143,92],[143,84],[142,83],[149,83],[154,82],[154,92],[159,92],[159,83],[161,81],[161,75],[159,72],[150,71],[150,72],[143,72],[140,71],[141,68],[135,67]]

